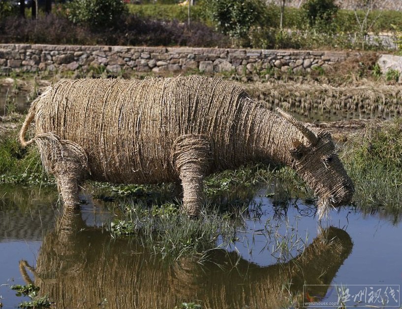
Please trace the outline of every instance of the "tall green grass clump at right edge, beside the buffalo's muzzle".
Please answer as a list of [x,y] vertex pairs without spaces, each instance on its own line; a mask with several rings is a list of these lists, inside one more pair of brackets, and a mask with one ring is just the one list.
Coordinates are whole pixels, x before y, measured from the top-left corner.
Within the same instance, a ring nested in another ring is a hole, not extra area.
[[367,127],[344,148],[345,168],[355,184],[355,203],[363,210],[385,208],[395,214],[402,203],[402,119]]

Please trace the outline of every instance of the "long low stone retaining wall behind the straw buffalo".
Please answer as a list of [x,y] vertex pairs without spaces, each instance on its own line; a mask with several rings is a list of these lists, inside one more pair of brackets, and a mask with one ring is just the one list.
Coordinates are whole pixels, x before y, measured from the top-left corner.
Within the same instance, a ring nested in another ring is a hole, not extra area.
[[243,74],[265,69],[304,72],[359,55],[357,52],[266,49],[0,44],[0,71],[86,72],[103,67],[111,73],[199,70]]

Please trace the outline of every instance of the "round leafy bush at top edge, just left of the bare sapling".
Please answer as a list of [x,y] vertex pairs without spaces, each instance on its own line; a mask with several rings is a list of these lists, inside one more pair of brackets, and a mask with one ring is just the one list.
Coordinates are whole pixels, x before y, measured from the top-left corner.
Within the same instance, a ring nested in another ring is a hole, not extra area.
[[302,4],[302,10],[311,27],[318,22],[325,25],[330,24],[338,9],[335,0],[307,0]]

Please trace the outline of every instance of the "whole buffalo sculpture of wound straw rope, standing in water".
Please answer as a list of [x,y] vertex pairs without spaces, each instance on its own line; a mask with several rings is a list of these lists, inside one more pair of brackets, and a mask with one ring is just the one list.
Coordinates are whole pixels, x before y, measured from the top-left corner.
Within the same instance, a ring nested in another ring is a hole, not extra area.
[[354,191],[327,131],[271,112],[217,78],[62,81],[32,102],[19,138],[37,144],[67,207],[79,204],[86,179],[181,181],[183,205],[196,216],[203,178],[249,161],[295,169],[319,197],[319,217]]

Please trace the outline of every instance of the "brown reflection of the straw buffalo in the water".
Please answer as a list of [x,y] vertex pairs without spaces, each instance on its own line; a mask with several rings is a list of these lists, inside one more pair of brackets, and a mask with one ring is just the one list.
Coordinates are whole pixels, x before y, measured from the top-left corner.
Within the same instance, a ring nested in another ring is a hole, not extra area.
[[[260,267],[223,250],[204,265],[166,263],[135,239],[111,240],[77,215],[66,216],[57,232],[46,236],[36,269],[25,261],[20,266],[27,281],[31,269],[35,284],[57,308],[174,308],[191,300],[206,308],[277,308],[289,294],[301,301],[303,284],[330,284],[351,249],[349,235],[330,227],[284,264]],[[310,292],[323,297],[327,289]]]

